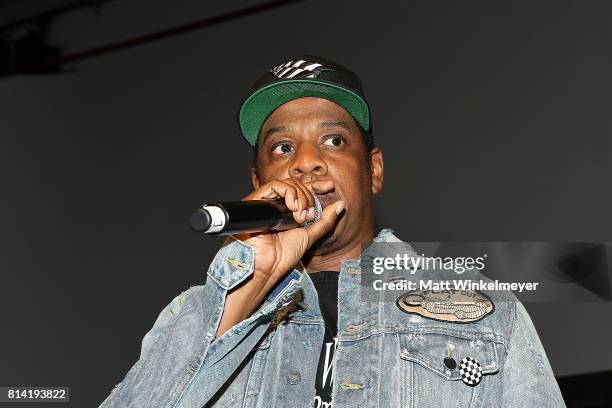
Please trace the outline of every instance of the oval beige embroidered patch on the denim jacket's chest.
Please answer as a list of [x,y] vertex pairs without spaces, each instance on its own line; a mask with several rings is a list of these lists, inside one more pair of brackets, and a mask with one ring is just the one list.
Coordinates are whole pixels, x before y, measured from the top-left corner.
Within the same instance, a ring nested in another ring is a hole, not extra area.
[[491,298],[477,290],[413,290],[397,298],[408,314],[451,323],[472,323],[495,310]]

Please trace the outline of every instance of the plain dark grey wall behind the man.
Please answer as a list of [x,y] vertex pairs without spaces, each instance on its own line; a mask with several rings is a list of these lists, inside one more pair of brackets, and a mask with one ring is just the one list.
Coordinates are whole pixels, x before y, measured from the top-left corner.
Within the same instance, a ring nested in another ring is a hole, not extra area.
[[[73,3],[0,1],[0,38]],[[89,3],[34,26],[67,55],[259,4]],[[5,65],[0,385],[70,386],[70,405],[89,407],[123,379],[161,309],[203,283],[220,241],[187,219],[250,191],[237,111],[294,54],[360,74],[385,153],[381,227],[612,240],[611,14],[606,1],[306,1],[45,68],[59,73]],[[526,307],[557,376],[612,369],[609,302]]]

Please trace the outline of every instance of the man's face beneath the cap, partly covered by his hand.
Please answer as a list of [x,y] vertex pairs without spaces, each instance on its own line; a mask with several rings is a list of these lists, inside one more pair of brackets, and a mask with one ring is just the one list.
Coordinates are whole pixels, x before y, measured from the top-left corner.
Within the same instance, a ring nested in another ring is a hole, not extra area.
[[383,181],[382,152],[366,151],[352,116],[327,99],[295,99],[268,117],[259,134],[257,171],[252,177],[255,188],[289,177],[305,184],[334,182],[333,190],[317,196],[323,208],[344,200],[346,212],[314,253],[332,252],[372,234],[372,198]]

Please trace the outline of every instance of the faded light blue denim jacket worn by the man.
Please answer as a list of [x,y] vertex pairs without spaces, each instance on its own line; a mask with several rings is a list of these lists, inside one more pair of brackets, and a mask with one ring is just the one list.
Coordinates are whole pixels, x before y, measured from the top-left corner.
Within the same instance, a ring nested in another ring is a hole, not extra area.
[[[375,242],[401,241],[383,230]],[[162,310],[140,358],[101,407],[312,408],[324,323],[302,268],[214,339],[225,297],[253,273],[254,255],[241,241],[224,245],[206,283]],[[409,315],[382,298],[362,301],[361,273],[358,260],[342,262],[334,407],[565,406],[534,326],[511,293],[498,296],[486,318],[457,324]],[[458,369],[445,367],[449,347],[481,363],[480,384],[467,386]]]

